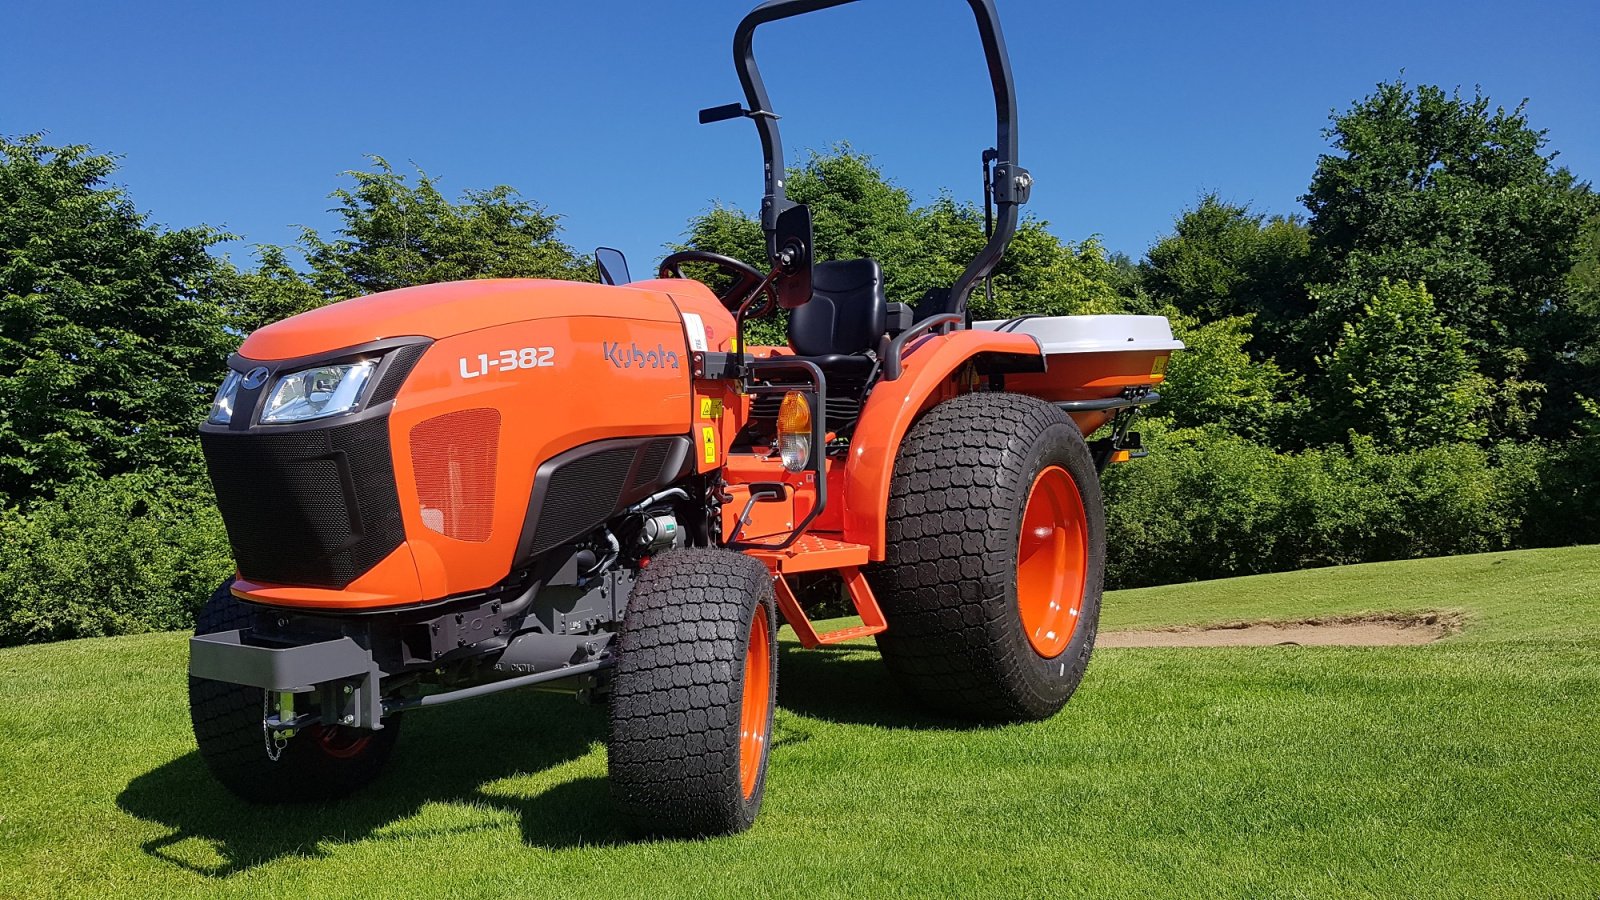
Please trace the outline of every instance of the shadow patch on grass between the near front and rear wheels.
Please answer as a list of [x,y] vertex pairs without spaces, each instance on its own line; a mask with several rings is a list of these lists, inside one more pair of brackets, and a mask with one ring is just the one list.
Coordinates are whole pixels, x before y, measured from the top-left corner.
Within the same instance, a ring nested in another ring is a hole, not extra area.
[[976,730],[982,722],[930,713],[894,684],[866,644],[802,649],[784,641],[778,657],[778,706],[846,725],[912,730]]

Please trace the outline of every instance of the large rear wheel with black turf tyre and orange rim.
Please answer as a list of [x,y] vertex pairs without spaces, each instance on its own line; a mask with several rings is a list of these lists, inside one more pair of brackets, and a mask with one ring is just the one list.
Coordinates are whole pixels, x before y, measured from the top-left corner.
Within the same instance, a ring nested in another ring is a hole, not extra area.
[[965,394],[912,426],[869,572],[896,681],[963,717],[1043,719],[1088,666],[1106,516],[1077,426],[1021,394]]

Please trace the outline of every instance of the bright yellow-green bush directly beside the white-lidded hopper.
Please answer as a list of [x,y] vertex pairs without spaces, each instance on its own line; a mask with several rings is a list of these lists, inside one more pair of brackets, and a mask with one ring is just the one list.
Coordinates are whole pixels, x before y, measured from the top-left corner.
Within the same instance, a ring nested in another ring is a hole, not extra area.
[[1232,434],[1275,444],[1299,418],[1294,380],[1270,359],[1245,351],[1253,315],[1203,322],[1166,309],[1184,351],[1173,354],[1154,415],[1178,428],[1213,424]]

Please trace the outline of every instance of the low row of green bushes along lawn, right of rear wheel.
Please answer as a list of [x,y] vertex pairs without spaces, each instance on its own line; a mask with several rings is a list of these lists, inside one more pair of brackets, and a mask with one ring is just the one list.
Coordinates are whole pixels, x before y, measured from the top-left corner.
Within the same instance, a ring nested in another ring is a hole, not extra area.
[[1594,517],[1541,535],[1541,480],[1576,445],[1390,453],[1357,439],[1274,453],[1216,428],[1146,429],[1146,445],[1106,472],[1107,581],[1120,588],[1600,540]]

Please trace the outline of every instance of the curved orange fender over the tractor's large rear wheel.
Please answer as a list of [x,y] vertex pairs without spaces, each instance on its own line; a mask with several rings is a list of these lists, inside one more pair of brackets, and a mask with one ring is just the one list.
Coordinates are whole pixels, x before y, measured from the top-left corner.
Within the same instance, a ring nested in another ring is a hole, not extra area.
[[912,344],[901,376],[880,381],[867,397],[850,442],[843,504],[845,540],[867,544],[872,560],[883,559],[896,448],[925,410],[971,389],[954,376],[978,357],[982,357],[979,367],[986,360],[1003,357],[1010,372],[1045,370],[1045,354],[1030,335],[950,331],[930,335]]

